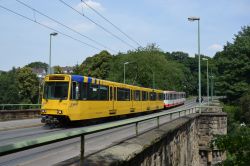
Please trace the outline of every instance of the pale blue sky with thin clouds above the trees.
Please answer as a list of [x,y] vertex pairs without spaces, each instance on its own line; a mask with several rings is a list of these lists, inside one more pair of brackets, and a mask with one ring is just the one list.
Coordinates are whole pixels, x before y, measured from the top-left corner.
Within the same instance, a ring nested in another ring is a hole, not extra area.
[[0,70],[8,71],[35,61],[49,63],[50,34],[53,32],[58,32],[58,35],[51,37],[52,66],[73,66],[98,54],[100,50],[117,54],[151,43],[164,52],[182,51],[194,56],[198,50],[198,22],[189,22],[187,18],[191,16],[200,18],[201,54],[210,57],[221,51],[227,42],[233,42],[234,34],[241,27],[250,26],[249,0],[84,2],[136,42],[98,16],[81,0],[0,0]]

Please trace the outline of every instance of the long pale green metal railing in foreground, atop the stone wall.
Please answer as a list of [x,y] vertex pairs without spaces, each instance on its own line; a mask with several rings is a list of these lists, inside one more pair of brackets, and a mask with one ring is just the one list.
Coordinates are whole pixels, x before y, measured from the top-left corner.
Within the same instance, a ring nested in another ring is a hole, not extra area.
[[204,109],[204,108],[206,109],[207,107],[206,106],[191,107],[191,108],[181,109],[181,110],[172,111],[172,112],[159,112],[159,113],[155,113],[151,115],[146,115],[143,117],[130,118],[127,120],[120,120],[116,122],[110,122],[110,123],[105,123],[105,124],[100,124],[100,125],[90,126],[90,127],[82,127],[82,128],[75,129],[73,131],[68,131],[68,132],[63,132],[63,133],[54,133],[54,134],[52,133],[47,136],[42,136],[39,138],[27,140],[27,141],[20,141],[20,142],[16,142],[13,144],[0,146],[0,156],[8,155],[11,153],[15,153],[15,152],[19,152],[19,151],[23,151],[23,150],[27,150],[27,149],[31,149],[31,148],[59,142],[59,141],[72,139],[75,137],[81,137],[80,159],[81,159],[81,163],[83,163],[84,149],[85,149],[84,147],[85,135],[100,132],[100,131],[107,130],[107,129],[135,124],[135,132],[136,132],[136,136],[138,136],[139,134],[138,124],[140,122],[156,119],[157,120],[156,127],[159,127],[160,118],[162,117],[169,116],[170,121],[171,121],[173,119],[176,119],[181,116],[188,115],[188,114],[193,114],[197,112],[201,113],[201,109]]

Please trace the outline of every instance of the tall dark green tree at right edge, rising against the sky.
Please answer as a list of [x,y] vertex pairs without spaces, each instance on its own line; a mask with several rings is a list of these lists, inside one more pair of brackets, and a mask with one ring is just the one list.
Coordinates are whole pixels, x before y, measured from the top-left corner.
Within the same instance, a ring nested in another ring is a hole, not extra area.
[[218,68],[217,89],[230,101],[240,98],[250,89],[250,26],[235,35],[233,43],[214,57]]

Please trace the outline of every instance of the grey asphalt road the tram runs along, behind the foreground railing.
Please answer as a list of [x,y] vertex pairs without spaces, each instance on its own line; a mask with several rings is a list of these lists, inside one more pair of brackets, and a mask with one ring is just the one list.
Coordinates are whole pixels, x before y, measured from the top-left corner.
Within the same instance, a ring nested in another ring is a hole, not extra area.
[[[185,105],[172,108],[165,111],[176,111],[177,109],[189,108],[195,106],[197,103],[194,100],[186,101]],[[178,115],[174,115],[173,119]],[[170,117],[160,118],[160,124],[169,122]],[[155,128],[156,120],[149,120],[139,123],[139,133],[146,132]],[[51,134],[52,132],[65,132],[74,130],[68,129],[47,129],[43,126],[32,127],[25,129],[17,129],[0,132],[0,145],[5,145],[25,139],[36,138]],[[110,147],[119,143],[122,140],[135,136],[135,125],[123,126],[111,130],[106,130],[85,136],[85,156]],[[58,162],[70,159],[80,154],[80,138],[74,138],[62,142],[45,145],[42,147],[6,155],[0,157],[1,166],[19,165],[19,166],[47,166]]]

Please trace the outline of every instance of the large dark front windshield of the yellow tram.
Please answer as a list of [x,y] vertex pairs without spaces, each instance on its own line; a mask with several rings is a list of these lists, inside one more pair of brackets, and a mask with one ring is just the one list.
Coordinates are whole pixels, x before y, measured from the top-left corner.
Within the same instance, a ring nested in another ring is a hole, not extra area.
[[54,100],[67,100],[68,89],[68,82],[45,82],[43,98]]

